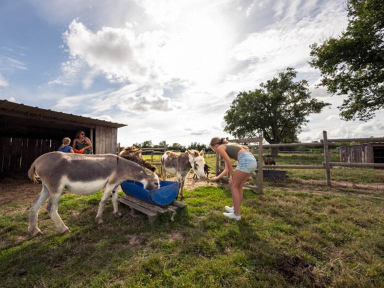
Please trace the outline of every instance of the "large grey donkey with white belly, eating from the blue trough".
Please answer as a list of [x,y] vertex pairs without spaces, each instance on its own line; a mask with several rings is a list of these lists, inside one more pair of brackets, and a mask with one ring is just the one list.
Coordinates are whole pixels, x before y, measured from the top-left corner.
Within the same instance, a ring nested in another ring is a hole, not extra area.
[[41,233],[37,227],[37,215],[40,206],[48,197],[47,210],[56,228],[61,233],[69,232],[68,227],[57,213],[57,202],[64,188],[68,192],[78,195],[90,195],[104,188],[96,215],[98,224],[103,222],[102,213],[112,192],[113,214],[121,217],[122,214],[117,207],[116,188],[124,180],[139,181],[148,190],[159,188],[156,174],[114,154],[49,152],[34,160],[29,168],[28,176],[34,183],[39,177],[42,184],[41,192],[29,207],[28,230],[32,235]]

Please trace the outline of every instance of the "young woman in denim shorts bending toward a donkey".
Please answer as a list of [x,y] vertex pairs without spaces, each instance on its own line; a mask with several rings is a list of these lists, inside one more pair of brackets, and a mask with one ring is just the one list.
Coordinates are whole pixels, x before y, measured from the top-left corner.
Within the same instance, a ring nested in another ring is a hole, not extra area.
[[[231,219],[240,220],[240,204],[242,201],[242,186],[248,179],[250,173],[256,169],[257,162],[253,154],[249,152],[248,147],[237,143],[230,143],[225,138],[214,137],[210,140],[210,146],[219,153],[225,161],[225,169],[217,177],[217,180],[229,174],[229,185],[232,192],[233,206],[225,206],[227,213],[224,216]],[[237,160],[237,166],[232,172],[232,159]]]

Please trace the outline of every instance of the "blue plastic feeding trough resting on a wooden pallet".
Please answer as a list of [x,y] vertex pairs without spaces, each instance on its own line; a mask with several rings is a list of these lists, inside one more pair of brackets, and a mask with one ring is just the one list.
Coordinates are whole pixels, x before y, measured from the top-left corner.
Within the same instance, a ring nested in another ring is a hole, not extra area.
[[168,205],[177,196],[179,182],[159,181],[160,188],[147,190],[137,181],[126,180],[121,183],[121,189],[130,196],[139,198],[155,205]]

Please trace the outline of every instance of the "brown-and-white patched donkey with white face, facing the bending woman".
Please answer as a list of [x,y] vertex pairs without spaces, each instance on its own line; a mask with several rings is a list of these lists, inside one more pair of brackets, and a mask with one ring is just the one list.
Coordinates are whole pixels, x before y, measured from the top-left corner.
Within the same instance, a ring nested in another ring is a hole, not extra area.
[[182,188],[190,168],[193,169],[193,172],[196,173],[199,179],[205,179],[205,161],[203,156],[204,151],[204,148],[202,148],[200,152],[197,150],[189,149],[186,149],[185,152],[165,151],[165,153],[161,156],[162,179],[166,179],[166,172],[168,172],[169,174],[176,175],[177,181],[180,182],[177,196],[180,194],[180,197],[184,198],[184,195],[182,194]]

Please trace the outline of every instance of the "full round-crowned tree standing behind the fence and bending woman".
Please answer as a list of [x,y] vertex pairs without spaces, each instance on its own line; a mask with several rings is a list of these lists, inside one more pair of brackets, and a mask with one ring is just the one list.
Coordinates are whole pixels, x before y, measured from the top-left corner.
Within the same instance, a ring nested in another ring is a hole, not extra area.
[[311,98],[306,80],[294,81],[297,72],[286,68],[259,89],[239,92],[225,112],[225,131],[235,137],[262,134],[269,143],[297,138],[306,117],[330,105]]

